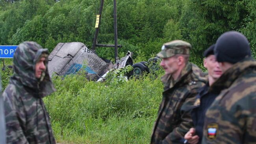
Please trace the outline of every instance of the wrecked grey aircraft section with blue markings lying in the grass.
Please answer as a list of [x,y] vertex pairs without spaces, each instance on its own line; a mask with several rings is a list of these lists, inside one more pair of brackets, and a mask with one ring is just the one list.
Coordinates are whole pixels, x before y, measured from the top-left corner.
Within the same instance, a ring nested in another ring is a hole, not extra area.
[[76,74],[80,69],[84,69],[86,77],[93,81],[98,80],[112,68],[133,65],[131,52],[128,52],[124,58],[113,65],[111,61],[107,63],[102,60],[80,42],[58,43],[50,53],[48,61],[50,77],[54,74],[58,76]]

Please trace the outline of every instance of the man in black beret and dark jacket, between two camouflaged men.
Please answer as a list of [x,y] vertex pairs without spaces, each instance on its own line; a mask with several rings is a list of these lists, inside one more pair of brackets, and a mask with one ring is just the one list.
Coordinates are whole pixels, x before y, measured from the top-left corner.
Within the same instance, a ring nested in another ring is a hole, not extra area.
[[190,128],[184,136],[184,139],[186,139],[189,144],[201,144],[205,112],[218,95],[214,92],[209,92],[210,86],[222,74],[219,63],[214,56],[214,46],[213,44],[204,51],[204,67],[208,70],[208,83],[198,90],[196,101],[192,107],[191,117],[195,127]]

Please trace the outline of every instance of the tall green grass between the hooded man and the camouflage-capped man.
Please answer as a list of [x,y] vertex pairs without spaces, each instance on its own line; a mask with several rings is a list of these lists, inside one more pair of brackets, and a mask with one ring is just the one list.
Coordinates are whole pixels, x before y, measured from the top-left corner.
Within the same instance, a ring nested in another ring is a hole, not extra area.
[[54,78],[57,91],[44,101],[56,140],[149,143],[163,90],[160,77],[151,77],[114,83],[96,83],[82,75]]

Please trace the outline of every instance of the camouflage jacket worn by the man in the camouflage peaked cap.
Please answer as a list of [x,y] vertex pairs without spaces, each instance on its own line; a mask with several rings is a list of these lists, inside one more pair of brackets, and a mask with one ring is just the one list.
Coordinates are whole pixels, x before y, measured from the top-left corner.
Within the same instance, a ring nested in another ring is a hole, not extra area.
[[174,82],[171,75],[162,77],[163,98],[154,124],[151,144],[182,143],[189,128],[193,127],[190,110],[198,88],[207,77],[197,66],[188,63]]

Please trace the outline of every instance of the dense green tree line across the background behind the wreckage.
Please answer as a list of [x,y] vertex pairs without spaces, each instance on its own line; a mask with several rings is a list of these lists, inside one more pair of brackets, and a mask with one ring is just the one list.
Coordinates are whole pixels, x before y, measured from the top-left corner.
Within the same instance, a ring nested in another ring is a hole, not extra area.
[[[99,7],[100,0],[0,0],[0,45],[37,41],[52,50],[59,42],[80,41],[91,48]],[[230,30],[245,34],[255,53],[255,9],[253,0],[117,0],[119,56],[130,50],[146,59],[164,42],[182,39],[200,63],[203,50]],[[113,1],[105,0],[98,43],[113,40]],[[113,59],[112,48],[97,53]]]

